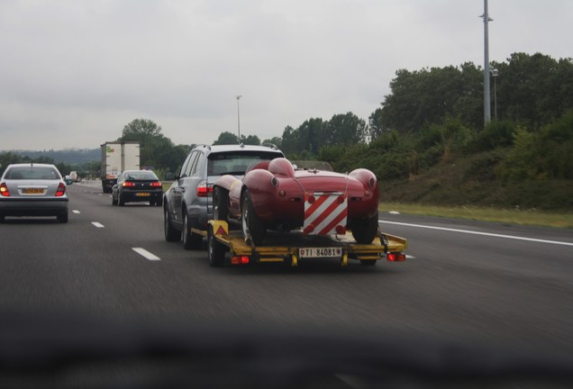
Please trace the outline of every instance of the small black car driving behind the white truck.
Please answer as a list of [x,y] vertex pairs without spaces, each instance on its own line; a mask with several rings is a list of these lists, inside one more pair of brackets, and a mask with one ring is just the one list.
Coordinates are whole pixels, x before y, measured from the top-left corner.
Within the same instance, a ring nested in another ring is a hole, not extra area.
[[150,170],[125,170],[112,186],[112,205],[149,202],[150,205],[163,204],[163,185]]

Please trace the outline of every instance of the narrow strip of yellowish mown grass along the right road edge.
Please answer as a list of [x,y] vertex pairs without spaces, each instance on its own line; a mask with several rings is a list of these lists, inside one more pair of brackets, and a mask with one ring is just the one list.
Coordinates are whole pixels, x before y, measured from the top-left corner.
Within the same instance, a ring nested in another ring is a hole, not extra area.
[[441,216],[483,222],[504,222],[573,229],[573,213],[549,213],[535,209],[521,210],[519,208],[482,208],[467,205],[449,207],[423,204],[380,203],[378,210],[382,213],[395,211],[405,214]]

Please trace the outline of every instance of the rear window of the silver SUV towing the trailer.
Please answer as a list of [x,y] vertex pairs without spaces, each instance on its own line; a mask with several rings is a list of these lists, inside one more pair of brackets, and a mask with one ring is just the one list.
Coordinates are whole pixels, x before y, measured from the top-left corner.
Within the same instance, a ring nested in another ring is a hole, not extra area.
[[208,157],[207,176],[243,175],[250,165],[282,156],[278,152],[244,150],[211,153]]

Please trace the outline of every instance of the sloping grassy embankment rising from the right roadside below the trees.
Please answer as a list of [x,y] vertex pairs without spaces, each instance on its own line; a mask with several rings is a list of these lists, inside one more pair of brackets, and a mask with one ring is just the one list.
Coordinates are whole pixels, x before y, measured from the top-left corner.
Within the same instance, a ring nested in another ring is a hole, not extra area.
[[380,211],[573,229],[573,180],[504,182],[501,151],[458,157],[382,182]]

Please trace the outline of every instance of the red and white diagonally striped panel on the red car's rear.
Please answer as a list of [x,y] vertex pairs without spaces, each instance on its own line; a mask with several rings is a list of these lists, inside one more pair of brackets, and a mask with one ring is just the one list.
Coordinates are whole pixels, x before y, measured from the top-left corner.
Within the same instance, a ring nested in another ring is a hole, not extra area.
[[346,233],[348,200],[341,193],[305,194],[305,221],[307,235],[333,235]]

